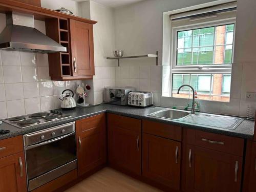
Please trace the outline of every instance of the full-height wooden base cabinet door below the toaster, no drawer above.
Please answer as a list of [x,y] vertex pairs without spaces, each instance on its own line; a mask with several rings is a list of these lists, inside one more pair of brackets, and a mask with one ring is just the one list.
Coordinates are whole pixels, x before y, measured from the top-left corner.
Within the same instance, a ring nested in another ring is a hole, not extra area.
[[141,175],[141,120],[108,114],[110,166]]

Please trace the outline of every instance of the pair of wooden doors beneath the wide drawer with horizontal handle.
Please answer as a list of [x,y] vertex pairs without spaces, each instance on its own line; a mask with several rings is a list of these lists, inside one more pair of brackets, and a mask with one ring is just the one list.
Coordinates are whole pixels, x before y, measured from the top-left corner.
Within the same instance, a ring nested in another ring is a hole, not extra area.
[[242,157],[186,145],[185,191],[240,191]]

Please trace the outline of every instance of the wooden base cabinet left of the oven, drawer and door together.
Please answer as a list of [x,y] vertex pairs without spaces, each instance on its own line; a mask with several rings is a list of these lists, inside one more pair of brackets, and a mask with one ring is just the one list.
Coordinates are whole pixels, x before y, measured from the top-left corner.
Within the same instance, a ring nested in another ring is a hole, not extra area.
[[0,191],[27,191],[22,136],[1,140],[0,149]]

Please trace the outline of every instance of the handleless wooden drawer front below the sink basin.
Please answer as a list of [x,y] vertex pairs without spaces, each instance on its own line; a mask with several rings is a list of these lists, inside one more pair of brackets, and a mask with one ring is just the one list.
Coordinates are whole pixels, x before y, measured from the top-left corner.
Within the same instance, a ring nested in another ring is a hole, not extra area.
[[180,126],[143,120],[142,127],[143,133],[181,141],[182,129]]

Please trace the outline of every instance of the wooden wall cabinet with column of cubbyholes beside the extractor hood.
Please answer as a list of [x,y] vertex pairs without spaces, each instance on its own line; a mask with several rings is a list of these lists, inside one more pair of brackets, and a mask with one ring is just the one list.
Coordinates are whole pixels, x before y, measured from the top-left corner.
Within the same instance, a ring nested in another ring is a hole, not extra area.
[[48,54],[52,80],[93,77],[93,24],[68,18],[49,18],[46,19],[46,34],[67,48],[67,52]]

